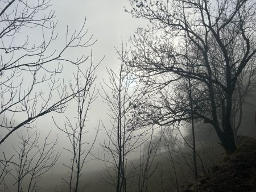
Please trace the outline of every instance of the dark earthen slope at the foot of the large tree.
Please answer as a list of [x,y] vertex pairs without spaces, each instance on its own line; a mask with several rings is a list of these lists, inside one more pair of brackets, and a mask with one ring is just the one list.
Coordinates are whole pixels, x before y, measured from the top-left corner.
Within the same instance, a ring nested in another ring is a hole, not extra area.
[[212,172],[183,192],[191,191],[256,191],[256,140],[238,136],[237,151],[212,168]]

